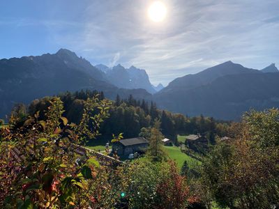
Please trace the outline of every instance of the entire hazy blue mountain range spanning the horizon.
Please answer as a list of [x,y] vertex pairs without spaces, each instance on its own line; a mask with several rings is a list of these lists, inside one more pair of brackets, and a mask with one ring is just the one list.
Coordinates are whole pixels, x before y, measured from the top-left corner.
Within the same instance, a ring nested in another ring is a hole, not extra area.
[[131,94],[188,116],[238,120],[250,108],[279,107],[279,70],[274,63],[255,70],[227,61],[174,79],[164,88],[162,84],[153,86],[145,70],[93,66],[68,49],[0,60],[0,118],[17,102],[81,89],[103,91],[110,99]]

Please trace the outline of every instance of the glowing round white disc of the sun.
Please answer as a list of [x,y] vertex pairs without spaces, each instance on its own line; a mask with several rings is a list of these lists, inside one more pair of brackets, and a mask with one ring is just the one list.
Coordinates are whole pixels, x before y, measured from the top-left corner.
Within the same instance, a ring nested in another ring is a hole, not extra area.
[[148,13],[149,18],[153,22],[161,22],[167,15],[167,8],[161,1],[154,1],[151,6],[149,6]]

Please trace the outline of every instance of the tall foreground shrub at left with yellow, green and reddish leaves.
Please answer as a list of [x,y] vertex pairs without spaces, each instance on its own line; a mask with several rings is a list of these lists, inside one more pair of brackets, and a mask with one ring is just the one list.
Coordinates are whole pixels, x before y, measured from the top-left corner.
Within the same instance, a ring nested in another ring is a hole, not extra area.
[[[45,121],[35,114],[22,124],[22,118],[13,116],[8,127],[0,130],[0,208],[87,208],[94,204],[88,191],[99,164],[75,150],[89,132],[96,137],[110,104],[97,98],[87,100],[80,124],[69,125],[61,116],[61,100],[50,102]],[[91,130],[89,123],[93,123]]]

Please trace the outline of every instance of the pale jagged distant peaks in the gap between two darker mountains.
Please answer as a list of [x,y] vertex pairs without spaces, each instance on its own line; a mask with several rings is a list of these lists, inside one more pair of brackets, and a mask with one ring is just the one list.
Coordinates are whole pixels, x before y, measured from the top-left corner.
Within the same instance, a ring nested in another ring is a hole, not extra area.
[[120,64],[113,68],[103,64],[95,65],[95,67],[105,73],[104,77],[108,82],[119,88],[143,88],[149,93],[156,93],[145,70],[135,68],[133,65],[126,69]]

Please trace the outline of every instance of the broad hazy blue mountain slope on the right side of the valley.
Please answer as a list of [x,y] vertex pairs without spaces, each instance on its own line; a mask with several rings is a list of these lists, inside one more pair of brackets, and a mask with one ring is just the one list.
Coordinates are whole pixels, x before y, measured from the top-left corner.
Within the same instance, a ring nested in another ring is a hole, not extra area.
[[154,95],[160,108],[189,116],[237,120],[250,108],[279,107],[279,73],[223,63],[182,78]]

